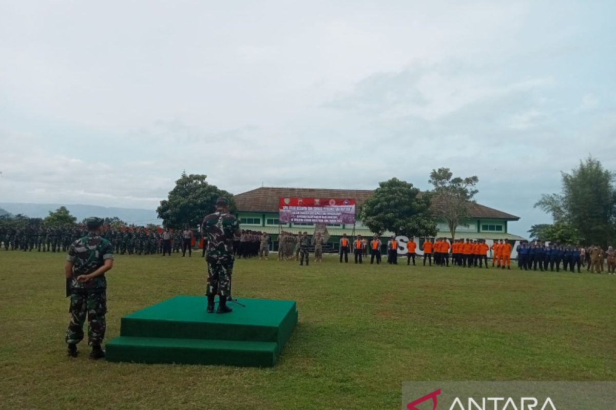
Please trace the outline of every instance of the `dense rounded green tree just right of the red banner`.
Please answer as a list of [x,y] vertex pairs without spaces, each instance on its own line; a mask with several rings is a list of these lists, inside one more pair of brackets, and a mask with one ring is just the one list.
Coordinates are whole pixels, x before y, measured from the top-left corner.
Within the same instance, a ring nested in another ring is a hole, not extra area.
[[429,195],[419,195],[413,184],[392,178],[379,183],[375,193],[362,203],[360,218],[372,232],[429,237],[436,235],[430,216]]

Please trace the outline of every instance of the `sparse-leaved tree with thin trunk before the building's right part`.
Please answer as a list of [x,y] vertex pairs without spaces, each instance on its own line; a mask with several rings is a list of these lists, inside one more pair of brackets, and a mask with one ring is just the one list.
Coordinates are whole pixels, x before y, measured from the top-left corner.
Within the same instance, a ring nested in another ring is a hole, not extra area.
[[449,168],[439,168],[430,173],[429,183],[434,186],[431,192],[432,201],[436,204],[434,213],[445,219],[452,239],[456,238],[458,226],[468,226],[466,219],[470,213],[473,197],[477,194],[475,186],[479,183],[477,176],[467,178],[452,178],[453,173]]

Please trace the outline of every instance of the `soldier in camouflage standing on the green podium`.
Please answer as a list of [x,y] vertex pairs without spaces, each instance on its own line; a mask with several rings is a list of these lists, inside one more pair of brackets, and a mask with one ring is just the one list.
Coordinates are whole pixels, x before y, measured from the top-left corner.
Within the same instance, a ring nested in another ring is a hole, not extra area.
[[214,313],[214,297],[219,294],[216,313],[232,312],[227,306],[231,296],[231,275],[233,274],[233,240],[240,235],[240,224],[229,213],[229,200],[216,200],[216,211],[203,218],[201,232],[208,235],[208,313]]

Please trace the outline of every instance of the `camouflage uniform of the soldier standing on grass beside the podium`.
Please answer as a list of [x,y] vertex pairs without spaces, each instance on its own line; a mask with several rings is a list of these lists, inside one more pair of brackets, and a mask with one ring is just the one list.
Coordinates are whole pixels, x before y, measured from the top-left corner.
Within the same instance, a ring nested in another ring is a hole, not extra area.
[[88,344],[100,345],[105,337],[105,313],[107,313],[107,280],[105,275],[79,282],[79,275],[91,274],[103,266],[105,259],[113,260],[111,243],[97,234],[90,233],[76,240],[68,248],[67,261],[73,263],[70,279],[71,321],[68,325],[67,344],[83,340],[83,324],[88,321]]

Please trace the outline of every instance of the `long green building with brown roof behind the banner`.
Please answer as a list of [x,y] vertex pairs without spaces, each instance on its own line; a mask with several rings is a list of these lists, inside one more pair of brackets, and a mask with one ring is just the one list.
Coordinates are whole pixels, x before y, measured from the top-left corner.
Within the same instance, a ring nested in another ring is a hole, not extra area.
[[[314,224],[283,224],[278,222],[278,204],[280,197],[299,198],[352,198],[355,206],[359,208],[364,200],[370,197],[374,191],[366,189],[315,189],[315,188],[274,188],[260,187],[252,191],[234,195],[237,204],[237,218],[240,220],[242,229],[267,232],[272,238],[272,250],[278,249],[278,232],[280,230],[298,234],[307,231],[312,235]],[[471,217],[466,221],[467,226],[458,226],[456,239],[507,239],[513,242],[524,238],[508,233],[509,221],[518,221],[520,218],[509,213],[495,210],[475,203],[471,206]],[[445,221],[438,222],[439,233],[437,237],[451,237]],[[338,248],[342,234],[362,235],[371,237],[373,232],[363,226],[362,221],[357,219],[352,224],[328,224],[330,244]],[[391,232],[385,232],[383,236],[389,236]],[[421,245],[421,243],[419,243]]]

